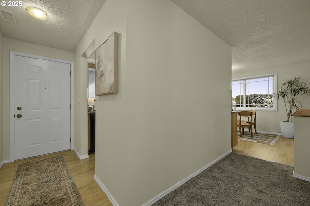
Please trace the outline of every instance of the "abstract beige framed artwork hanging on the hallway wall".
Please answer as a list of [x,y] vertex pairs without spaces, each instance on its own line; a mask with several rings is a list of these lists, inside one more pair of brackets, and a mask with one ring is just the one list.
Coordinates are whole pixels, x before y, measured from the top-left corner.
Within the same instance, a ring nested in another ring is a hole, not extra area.
[[118,33],[113,32],[96,50],[96,95],[118,93]]

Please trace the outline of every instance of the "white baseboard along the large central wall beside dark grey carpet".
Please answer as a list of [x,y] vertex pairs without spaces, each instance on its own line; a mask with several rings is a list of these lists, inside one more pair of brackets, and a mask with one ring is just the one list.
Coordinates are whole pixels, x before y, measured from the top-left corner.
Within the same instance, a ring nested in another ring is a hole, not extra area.
[[228,155],[229,153],[231,153],[232,150],[229,150],[228,152],[224,153],[223,155],[221,155],[220,157],[218,157],[217,159],[215,159],[214,161],[210,162],[209,164],[205,165],[204,167],[202,167],[200,170],[198,170],[197,172],[191,174],[190,176],[186,177],[185,179],[181,180],[180,182],[178,182],[177,184],[173,185],[171,188],[169,188],[168,190],[162,192],[161,194],[157,195],[155,198],[153,198],[152,200],[150,200],[149,202],[143,204],[143,206],[151,206],[152,204],[154,204],[155,202],[157,202],[158,200],[160,200],[161,198],[163,198],[164,196],[166,196],[167,194],[169,194],[171,191],[174,191],[175,189],[177,189],[178,187],[180,187],[181,185],[183,185],[184,183],[186,183],[188,180],[190,180],[191,178],[197,176],[198,174],[200,174],[201,172],[203,172],[204,170],[206,170],[207,168],[209,168],[210,166],[212,166],[213,164],[215,164],[217,161],[221,160],[223,157],[225,157],[226,155]]

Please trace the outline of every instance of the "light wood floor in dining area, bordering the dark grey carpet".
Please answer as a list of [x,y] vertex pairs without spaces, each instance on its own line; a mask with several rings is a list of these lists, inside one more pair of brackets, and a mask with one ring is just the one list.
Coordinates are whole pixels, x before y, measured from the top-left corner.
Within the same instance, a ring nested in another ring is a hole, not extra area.
[[294,139],[280,136],[274,145],[266,145],[238,139],[233,152],[271,162],[294,166]]

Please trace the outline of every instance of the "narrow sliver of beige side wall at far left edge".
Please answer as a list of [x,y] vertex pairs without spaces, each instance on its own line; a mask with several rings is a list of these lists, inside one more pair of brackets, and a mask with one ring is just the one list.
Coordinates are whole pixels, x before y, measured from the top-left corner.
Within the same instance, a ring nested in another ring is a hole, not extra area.
[[3,36],[0,32],[0,163],[3,159]]

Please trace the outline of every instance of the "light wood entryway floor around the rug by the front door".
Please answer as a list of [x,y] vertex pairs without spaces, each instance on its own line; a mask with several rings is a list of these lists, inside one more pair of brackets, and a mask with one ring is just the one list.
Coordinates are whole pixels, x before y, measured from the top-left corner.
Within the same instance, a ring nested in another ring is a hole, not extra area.
[[5,163],[0,169],[0,206],[4,206],[6,203],[20,162],[42,159],[57,154],[63,154],[63,158],[86,206],[112,206],[108,197],[93,179],[95,174],[95,153],[90,154],[87,159],[79,160],[73,150]]

